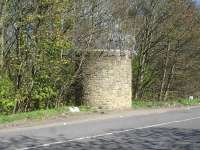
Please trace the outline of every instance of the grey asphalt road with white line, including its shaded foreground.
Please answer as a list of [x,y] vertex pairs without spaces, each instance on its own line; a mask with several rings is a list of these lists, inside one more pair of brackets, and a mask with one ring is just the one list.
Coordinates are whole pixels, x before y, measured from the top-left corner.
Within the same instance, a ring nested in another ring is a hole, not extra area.
[[200,150],[200,108],[0,132],[0,150]]

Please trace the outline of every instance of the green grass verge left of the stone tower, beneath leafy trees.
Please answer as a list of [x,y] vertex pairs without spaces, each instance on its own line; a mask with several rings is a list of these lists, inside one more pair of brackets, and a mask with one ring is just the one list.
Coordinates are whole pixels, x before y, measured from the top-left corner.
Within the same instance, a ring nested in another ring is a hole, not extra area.
[[[91,112],[94,111],[92,108],[87,106],[79,107],[81,112]],[[26,113],[17,113],[12,115],[0,115],[0,124],[13,123],[16,121],[23,120],[45,120],[48,118],[53,118],[62,114],[70,114],[69,107],[62,107],[58,109],[47,109],[38,110]]]

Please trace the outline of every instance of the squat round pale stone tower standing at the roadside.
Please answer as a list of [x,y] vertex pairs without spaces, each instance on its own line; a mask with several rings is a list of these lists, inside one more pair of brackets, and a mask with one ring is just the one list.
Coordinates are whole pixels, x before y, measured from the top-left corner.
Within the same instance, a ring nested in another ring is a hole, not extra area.
[[130,51],[88,51],[83,65],[83,100],[92,107],[131,108],[132,59]]

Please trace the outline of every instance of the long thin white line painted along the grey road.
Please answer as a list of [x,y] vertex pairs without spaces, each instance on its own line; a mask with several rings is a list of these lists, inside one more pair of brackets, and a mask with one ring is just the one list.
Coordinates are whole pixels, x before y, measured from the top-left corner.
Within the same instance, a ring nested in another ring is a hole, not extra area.
[[103,134],[97,134],[97,135],[94,135],[94,136],[80,137],[80,138],[75,138],[75,139],[66,140],[66,141],[58,141],[58,142],[53,142],[53,143],[47,143],[47,144],[42,144],[42,145],[33,146],[33,147],[25,147],[25,148],[16,149],[16,150],[30,150],[30,149],[36,149],[36,148],[41,148],[41,147],[49,147],[49,146],[57,145],[57,144],[64,144],[64,143],[74,142],[74,141],[94,139],[94,138],[109,136],[109,135],[113,135],[113,134],[119,134],[119,133],[135,131],[135,130],[148,129],[148,128],[153,128],[153,127],[160,127],[160,126],[164,126],[164,125],[170,125],[170,124],[180,123],[180,122],[187,122],[187,121],[192,121],[192,120],[197,120],[197,119],[200,119],[200,116],[194,117],[194,118],[188,118],[188,119],[184,119],[184,120],[163,122],[163,123],[153,124],[153,125],[139,127],[139,128],[132,128],[132,129],[126,129],[126,130],[121,130],[121,131],[113,131],[113,132],[108,132],[108,133],[103,133]]

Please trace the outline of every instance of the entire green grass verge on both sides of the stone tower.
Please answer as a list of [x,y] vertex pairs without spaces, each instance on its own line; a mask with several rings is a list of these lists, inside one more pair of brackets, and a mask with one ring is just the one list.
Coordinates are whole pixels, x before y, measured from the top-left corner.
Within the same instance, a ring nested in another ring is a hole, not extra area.
[[[179,99],[171,101],[155,101],[155,100],[134,100],[133,108],[134,109],[148,109],[148,108],[170,108],[177,106],[195,106],[200,105],[200,99],[188,100],[188,99]],[[95,109],[92,109],[87,106],[79,107],[81,112],[95,112]],[[54,118],[61,116],[62,114],[70,114],[69,107],[62,107],[59,109],[48,109],[48,110],[38,110],[33,112],[18,113],[12,115],[0,115],[0,124],[5,123],[14,123],[17,121],[24,120],[45,120],[49,118]]]

